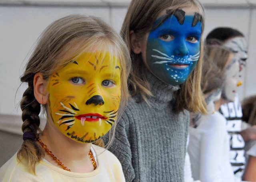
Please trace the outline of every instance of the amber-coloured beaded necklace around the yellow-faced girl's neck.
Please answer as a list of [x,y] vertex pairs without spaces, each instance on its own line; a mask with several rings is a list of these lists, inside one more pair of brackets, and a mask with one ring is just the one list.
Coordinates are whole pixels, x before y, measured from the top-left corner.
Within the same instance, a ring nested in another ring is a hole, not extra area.
[[[44,144],[42,142],[42,140],[40,140],[40,138],[38,136],[36,136],[36,139],[38,141],[38,143],[40,143],[40,145],[42,146],[42,148],[45,150],[46,154],[50,155],[54,160],[55,162],[64,170],[67,170],[67,171],[71,171],[70,169],[68,169],[64,164],[62,164],[62,162],[60,162],[60,160],[57,159],[57,157],[54,156],[54,154],[52,154],[52,152],[47,148],[46,144]],[[90,160],[92,161],[92,165],[93,165],[93,168],[94,170],[97,168],[97,163],[96,161],[94,160],[94,157],[92,155],[92,151],[89,150],[88,152],[88,155],[89,155],[89,158]]]

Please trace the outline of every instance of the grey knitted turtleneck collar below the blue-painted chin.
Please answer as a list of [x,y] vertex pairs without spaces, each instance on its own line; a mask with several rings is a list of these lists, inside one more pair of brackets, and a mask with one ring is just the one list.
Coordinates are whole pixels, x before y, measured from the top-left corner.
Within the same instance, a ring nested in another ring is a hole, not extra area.
[[168,104],[174,98],[174,91],[180,89],[179,85],[174,86],[162,82],[149,71],[147,72],[147,78],[150,83],[150,91],[153,95],[148,100],[152,104]]

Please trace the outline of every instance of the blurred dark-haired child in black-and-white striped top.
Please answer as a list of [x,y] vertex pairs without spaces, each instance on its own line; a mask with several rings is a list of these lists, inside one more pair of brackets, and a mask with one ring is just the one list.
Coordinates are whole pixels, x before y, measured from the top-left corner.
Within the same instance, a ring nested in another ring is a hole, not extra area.
[[[246,66],[247,59],[247,42],[244,34],[239,30],[231,27],[217,27],[212,30],[206,37],[206,43],[215,44],[215,41],[220,41],[221,45],[232,51],[239,62],[239,71],[242,77],[242,71]],[[240,82],[242,84],[242,81]],[[228,88],[226,88],[228,90]],[[225,91],[226,89],[223,89]],[[235,98],[222,93],[222,98],[219,101],[220,113],[224,115],[227,120],[228,135],[230,136],[230,162],[235,174],[236,180],[240,181],[242,171],[244,170],[244,138],[239,132],[242,130],[242,109],[239,101],[238,93]],[[233,98],[233,99],[232,99]]]

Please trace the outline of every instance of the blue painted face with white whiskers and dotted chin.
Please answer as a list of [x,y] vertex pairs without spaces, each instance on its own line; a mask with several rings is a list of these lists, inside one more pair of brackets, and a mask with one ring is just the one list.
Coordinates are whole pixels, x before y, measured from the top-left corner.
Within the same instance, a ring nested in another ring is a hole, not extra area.
[[[161,81],[170,85],[180,85],[196,67],[200,55],[202,27],[201,21],[195,24],[196,16],[198,14],[177,20],[176,16],[171,15],[150,32],[146,62],[150,71]],[[154,25],[159,21],[160,18]]]

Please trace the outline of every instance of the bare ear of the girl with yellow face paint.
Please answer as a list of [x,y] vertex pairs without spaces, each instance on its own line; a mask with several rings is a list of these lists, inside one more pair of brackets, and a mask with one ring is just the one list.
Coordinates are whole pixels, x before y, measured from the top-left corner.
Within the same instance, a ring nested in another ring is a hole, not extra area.
[[34,76],[34,95],[38,103],[42,105],[47,104],[48,101],[46,88],[47,82],[44,79],[42,73],[36,73]]

